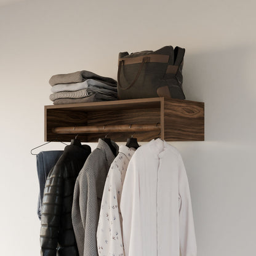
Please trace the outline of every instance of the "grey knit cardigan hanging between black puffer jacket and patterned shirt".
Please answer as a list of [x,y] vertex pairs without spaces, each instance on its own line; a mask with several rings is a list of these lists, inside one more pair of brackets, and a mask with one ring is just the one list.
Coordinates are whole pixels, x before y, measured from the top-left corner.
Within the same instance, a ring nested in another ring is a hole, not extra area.
[[92,151],[76,179],[72,207],[72,223],[78,244],[79,256],[97,256],[97,226],[102,194],[111,163],[118,154],[118,145],[114,155],[110,146],[101,138],[97,148]]

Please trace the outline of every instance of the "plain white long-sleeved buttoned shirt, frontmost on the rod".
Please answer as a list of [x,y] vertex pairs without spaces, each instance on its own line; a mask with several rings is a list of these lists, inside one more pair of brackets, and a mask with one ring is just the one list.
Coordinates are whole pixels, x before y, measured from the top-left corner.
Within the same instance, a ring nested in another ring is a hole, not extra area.
[[126,256],[196,256],[188,178],[180,153],[167,142],[158,138],[135,151],[121,214]]

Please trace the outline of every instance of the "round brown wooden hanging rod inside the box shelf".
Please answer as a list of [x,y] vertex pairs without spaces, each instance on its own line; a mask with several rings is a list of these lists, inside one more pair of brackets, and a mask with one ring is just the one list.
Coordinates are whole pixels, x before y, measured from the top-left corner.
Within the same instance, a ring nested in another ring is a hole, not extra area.
[[55,134],[89,134],[89,133],[107,133],[107,132],[148,132],[160,131],[161,125],[157,124],[120,124],[106,126],[70,126],[55,127],[52,132]]

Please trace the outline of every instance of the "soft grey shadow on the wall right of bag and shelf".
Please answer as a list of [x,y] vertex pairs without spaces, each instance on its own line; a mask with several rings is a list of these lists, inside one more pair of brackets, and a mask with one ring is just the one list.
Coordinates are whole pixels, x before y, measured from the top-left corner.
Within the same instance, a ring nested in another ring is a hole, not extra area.
[[205,102],[207,141],[252,140],[255,54],[253,46],[237,46],[185,55],[183,89],[187,100]]

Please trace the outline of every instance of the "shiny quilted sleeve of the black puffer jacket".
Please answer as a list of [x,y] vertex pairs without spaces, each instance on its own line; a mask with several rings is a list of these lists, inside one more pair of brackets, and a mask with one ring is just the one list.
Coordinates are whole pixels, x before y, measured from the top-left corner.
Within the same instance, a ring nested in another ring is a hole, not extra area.
[[44,197],[42,199],[41,217],[41,255],[54,256],[57,254],[60,213],[62,210],[63,177],[54,167],[46,180]]

